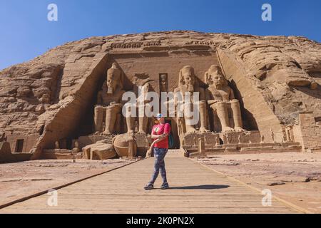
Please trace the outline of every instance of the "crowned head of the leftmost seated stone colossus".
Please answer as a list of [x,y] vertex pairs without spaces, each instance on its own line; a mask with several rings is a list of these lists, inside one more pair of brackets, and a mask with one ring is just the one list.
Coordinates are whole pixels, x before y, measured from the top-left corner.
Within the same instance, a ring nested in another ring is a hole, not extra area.
[[113,63],[113,66],[107,71],[107,88],[108,94],[112,94],[118,88],[123,88],[123,77],[121,70],[118,68],[117,63]]

